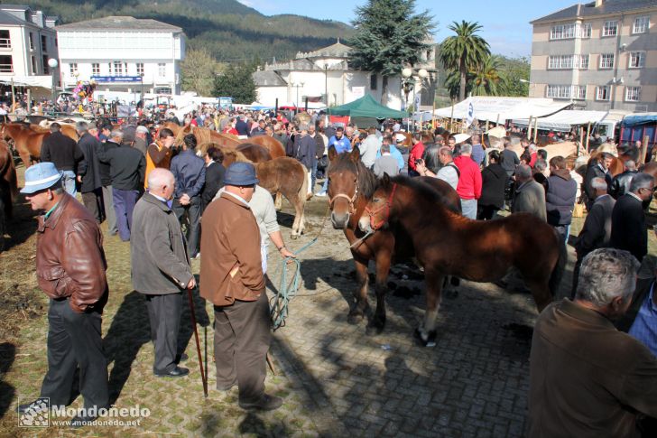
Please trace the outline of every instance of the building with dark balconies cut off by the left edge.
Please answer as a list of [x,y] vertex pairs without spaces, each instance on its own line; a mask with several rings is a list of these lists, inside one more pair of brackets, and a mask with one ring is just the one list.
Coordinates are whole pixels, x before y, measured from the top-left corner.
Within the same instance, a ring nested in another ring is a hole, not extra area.
[[57,17],[27,5],[0,5],[0,79],[51,74],[57,60]]

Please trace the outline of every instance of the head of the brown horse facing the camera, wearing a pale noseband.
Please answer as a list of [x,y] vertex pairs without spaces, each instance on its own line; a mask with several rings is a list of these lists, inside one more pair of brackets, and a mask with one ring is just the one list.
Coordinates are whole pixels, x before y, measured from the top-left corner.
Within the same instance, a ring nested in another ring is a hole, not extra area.
[[356,212],[354,203],[358,197],[359,159],[357,147],[345,154],[338,154],[333,146],[328,149],[328,205],[333,228],[347,228],[351,215]]

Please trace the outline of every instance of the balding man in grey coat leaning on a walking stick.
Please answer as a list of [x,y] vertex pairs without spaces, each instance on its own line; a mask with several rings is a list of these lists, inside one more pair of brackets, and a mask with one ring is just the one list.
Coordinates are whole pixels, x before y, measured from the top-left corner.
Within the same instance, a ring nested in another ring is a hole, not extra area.
[[155,349],[153,373],[158,377],[182,377],[190,370],[177,363],[181,293],[196,287],[196,280],[191,273],[187,241],[171,210],[173,173],[154,169],[148,174],[148,188],[133,211],[133,286],[146,295]]

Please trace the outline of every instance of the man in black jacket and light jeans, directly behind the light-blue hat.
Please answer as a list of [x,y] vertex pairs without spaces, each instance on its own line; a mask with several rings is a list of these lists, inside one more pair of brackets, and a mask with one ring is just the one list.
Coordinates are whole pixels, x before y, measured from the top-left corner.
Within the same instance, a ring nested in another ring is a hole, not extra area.
[[51,124],[51,135],[43,139],[41,161],[54,163],[58,170],[64,172],[61,184],[73,197],[78,192],[75,187],[75,172],[84,157],[75,140],[61,134],[60,124]]

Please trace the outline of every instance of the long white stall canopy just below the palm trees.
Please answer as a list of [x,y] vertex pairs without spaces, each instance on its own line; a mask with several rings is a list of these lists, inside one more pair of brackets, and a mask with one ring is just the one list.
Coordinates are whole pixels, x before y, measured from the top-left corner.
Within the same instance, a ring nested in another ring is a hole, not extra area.
[[477,96],[467,98],[452,107],[436,109],[433,114],[439,117],[467,119],[467,109],[472,104],[477,120],[504,123],[514,118],[550,116],[571,105],[570,102],[557,102],[551,98],[499,98]]

